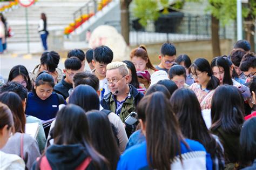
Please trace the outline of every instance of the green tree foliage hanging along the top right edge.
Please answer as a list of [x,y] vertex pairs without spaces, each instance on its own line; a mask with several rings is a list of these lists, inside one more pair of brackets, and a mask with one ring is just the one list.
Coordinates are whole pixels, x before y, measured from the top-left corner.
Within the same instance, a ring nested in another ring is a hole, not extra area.
[[[185,2],[203,2],[208,1],[209,5],[206,11],[219,19],[221,25],[227,25],[237,18],[237,0],[176,0],[174,8],[182,8]],[[256,1],[248,0],[248,4],[242,5],[242,17],[250,16],[255,19]],[[139,18],[139,23],[143,26],[148,21],[156,21],[160,16],[159,9],[165,9],[163,13],[167,13],[169,0],[134,0],[134,8],[132,9],[135,17]]]

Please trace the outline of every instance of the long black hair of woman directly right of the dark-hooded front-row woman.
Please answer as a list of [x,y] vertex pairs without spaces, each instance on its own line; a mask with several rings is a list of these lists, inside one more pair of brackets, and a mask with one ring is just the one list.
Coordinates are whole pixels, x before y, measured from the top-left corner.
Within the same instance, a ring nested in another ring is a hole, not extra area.
[[120,152],[109,118],[105,113],[97,110],[86,112],[86,117],[93,147],[110,162],[111,169],[116,169]]

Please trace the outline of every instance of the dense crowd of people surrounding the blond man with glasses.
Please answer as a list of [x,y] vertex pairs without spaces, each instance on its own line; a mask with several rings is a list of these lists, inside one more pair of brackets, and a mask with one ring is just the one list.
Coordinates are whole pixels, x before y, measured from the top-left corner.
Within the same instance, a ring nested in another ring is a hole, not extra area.
[[1,86],[0,169],[256,169],[250,50],[191,62],[164,43],[155,67],[143,45],[122,62],[103,45],[69,51],[63,70],[45,51]]

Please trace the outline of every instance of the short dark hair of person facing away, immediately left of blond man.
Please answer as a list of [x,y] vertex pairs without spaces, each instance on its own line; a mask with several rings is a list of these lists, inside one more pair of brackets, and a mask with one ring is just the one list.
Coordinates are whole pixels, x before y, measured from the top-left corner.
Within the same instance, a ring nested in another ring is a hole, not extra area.
[[75,87],[77,87],[80,84],[86,84],[93,87],[93,89],[95,89],[96,91],[99,90],[98,77],[89,71],[76,73],[73,77],[73,83]]

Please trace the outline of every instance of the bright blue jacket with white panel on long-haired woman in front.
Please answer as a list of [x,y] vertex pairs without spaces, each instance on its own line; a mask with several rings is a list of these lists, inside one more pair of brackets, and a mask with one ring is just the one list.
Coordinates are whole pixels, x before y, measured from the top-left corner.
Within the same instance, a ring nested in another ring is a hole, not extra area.
[[[194,140],[185,139],[185,141],[190,148],[187,148],[183,142],[180,142],[184,168],[181,168],[179,158],[175,157],[173,164],[170,165],[172,169],[212,169],[211,155],[206,153],[204,146]],[[119,169],[150,169],[149,163],[147,162],[146,141],[127,149],[120,156],[117,165],[117,170]]]

